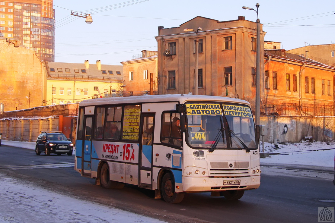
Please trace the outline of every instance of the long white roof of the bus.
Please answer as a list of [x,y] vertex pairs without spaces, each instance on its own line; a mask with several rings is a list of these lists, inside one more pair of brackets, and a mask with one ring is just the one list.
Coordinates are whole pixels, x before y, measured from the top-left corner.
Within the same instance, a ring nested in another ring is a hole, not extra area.
[[220,96],[209,96],[209,95],[142,95],[142,96],[131,96],[131,97],[117,97],[117,98],[96,98],[83,100],[79,103],[79,106],[93,106],[93,105],[102,105],[110,103],[143,103],[143,102],[181,102],[186,101],[221,101],[221,102],[231,102],[231,103],[241,103],[250,105],[249,102],[236,99],[236,98],[227,98]]

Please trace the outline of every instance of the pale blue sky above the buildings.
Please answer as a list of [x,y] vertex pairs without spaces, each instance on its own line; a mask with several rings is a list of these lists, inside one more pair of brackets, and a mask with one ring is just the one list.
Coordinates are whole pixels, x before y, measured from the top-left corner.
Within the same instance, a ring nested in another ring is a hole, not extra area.
[[[242,15],[256,21],[256,12],[242,9],[256,9],[256,3],[260,4],[263,31],[267,32],[265,40],[281,42],[286,50],[304,46],[304,42],[335,43],[334,0],[54,0],[55,62],[89,60],[94,64],[101,60],[102,64],[121,65],[143,49],[157,50],[154,36],[158,35],[158,26],[177,27],[198,15],[219,21]],[[128,6],[111,6],[116,4]],[[71,10],[92,13],[93,23],[71,16]]]

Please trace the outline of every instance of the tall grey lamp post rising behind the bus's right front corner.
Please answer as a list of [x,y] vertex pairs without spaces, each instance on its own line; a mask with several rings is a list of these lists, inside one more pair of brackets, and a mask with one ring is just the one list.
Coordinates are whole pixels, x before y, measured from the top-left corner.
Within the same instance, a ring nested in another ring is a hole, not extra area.
[[258,18],[258,7],[259,4],[256,3],[256,8],[257,11],[253,8],[249,8],[246,6],[243,6],[243,9],[249,9],[249,10],[254,10],[257,13],[257,40],[256,40],[256,125],[260,124],[260,100],[261,100],[261,95],[260,95],[260,84],[261,84],[261,77],[260,77],[260,57],[261,57],[261,38],[260,38],[260,23],[259,23],[259,18]]

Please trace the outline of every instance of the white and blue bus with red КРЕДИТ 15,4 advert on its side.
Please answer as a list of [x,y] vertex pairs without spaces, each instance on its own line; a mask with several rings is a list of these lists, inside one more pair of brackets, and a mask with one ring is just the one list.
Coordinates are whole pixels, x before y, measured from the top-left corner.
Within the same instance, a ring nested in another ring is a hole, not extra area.
[[247,101],[148,95],[79,104],[75,170],[106,189],[125,184],[179,203],[185,193],[228,200],[260,186],[259,133]]

